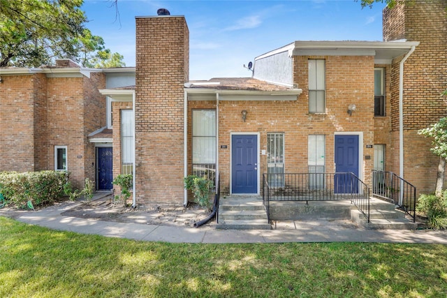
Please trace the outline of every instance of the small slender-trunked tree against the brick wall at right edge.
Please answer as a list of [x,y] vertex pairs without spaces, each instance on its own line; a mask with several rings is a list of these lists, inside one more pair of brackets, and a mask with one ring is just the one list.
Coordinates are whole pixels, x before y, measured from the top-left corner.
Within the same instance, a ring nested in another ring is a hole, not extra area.
[[[447,95],[447,91],[444,91]],[[446,172],[446,158],[447,158],[447,117],[441,118],[437,123],[432,124],[427,128],[418,131],[420,135],[425,137],[432,137],[432,148],[430,151],[436,156],[439,156],[437,180],[435,187],[435,195],[438,197],[442,194],[442,186],[444,186],[444,174]]]

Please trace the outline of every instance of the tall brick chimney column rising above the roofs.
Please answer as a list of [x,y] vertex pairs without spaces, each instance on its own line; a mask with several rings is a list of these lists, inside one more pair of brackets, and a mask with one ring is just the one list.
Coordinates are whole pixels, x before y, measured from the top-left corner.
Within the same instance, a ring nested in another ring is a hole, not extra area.
[[136,17],[135,179],[138,204],[182,204],[184,83],[189,30],[183,16]]

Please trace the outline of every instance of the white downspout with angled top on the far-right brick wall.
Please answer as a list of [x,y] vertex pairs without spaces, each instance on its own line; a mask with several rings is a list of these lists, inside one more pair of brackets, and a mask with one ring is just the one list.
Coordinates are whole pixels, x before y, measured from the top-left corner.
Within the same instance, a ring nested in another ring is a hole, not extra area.
[[[404,63],[411,54],[413,54],[416,46],[406,53],[405,57],[399,63],[399,176],[404,178]],[[402,189],[402,186],[401,186]],[[402,206],[403,192],[400,192],[399,205]]]

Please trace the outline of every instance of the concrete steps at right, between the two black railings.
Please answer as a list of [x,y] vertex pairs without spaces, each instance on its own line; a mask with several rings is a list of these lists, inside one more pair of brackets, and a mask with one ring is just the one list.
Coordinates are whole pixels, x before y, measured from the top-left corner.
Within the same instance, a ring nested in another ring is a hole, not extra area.
[[351,220],[361,227],[369,230],[416,230],[416,228],[418,228],[417,223],[413,223],[406,218],[370,217],[368,223],[365,216],[363,216],[363,214],[361,214],[358,210],[351,211]]

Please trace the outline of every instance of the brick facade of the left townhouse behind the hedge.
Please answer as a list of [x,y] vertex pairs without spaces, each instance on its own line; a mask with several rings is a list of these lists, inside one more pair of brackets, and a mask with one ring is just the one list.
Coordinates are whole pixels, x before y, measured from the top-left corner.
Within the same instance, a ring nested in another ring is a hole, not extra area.
[[91,131],[105,125],[103,73],[80,73],[60,60],[55,68],[5,68],[0,84],[0,171],[54,170],[57,147],[66,147],[66,168],[76,188],[95,181]]

